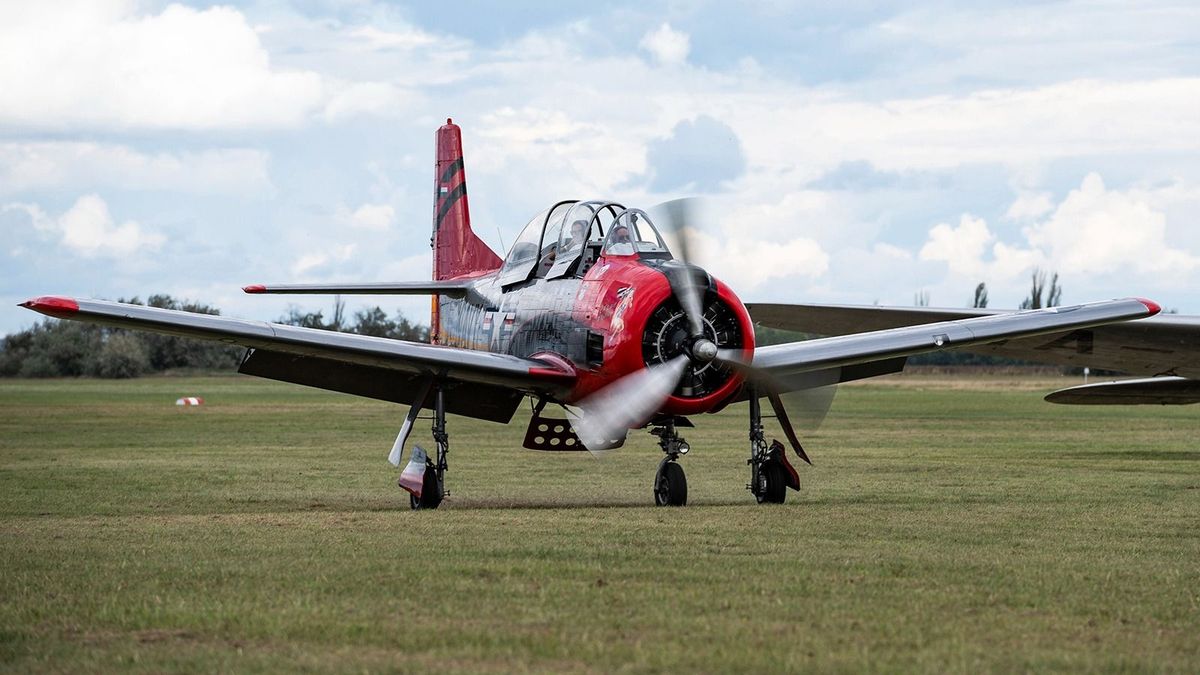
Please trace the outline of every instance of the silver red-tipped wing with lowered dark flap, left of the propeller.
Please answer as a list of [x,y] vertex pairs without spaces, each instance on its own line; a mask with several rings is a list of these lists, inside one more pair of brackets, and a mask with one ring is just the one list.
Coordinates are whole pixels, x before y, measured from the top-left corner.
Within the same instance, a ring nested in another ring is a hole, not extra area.
[[437,377],[448,384],[449,412],[494,422],[508,422],[526,394],[558,398],[575,378],[538,359],[263,321],[59,297],[22,306],[58,318],[241,345],[251,351],[239,372],[386,401],[413,404],[421,384]]

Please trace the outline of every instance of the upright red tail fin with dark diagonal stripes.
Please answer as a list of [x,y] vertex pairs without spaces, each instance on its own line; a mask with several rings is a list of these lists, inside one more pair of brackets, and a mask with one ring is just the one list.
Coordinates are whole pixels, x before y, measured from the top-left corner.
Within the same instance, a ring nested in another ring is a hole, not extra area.
[[500,257],[470,229],[467,174],[462,163],[462,132],[446,119],[437,135],[433,175],[433,279],[499,269]]

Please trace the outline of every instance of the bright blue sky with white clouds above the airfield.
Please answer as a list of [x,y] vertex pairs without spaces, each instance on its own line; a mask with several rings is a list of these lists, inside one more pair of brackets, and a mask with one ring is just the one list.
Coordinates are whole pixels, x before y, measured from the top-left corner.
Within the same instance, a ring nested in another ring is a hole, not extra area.
[[[744,301],[1200,313],[1194,2],[0,0],[0,334],[37,295],[430,277],[433,135],[493,249],[702,197]],[[425,298],[347,298],[428,322]]]

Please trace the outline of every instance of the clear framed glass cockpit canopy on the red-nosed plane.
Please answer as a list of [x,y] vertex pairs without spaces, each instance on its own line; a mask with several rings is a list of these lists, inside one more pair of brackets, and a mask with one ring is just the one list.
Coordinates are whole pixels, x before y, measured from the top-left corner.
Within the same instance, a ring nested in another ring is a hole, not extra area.
[[671,258],[646,211],[600,199],[559,202],[524,226],[499,280],[509,286],[532,276],[558,279],[578,273],[584,257],[642,255]]

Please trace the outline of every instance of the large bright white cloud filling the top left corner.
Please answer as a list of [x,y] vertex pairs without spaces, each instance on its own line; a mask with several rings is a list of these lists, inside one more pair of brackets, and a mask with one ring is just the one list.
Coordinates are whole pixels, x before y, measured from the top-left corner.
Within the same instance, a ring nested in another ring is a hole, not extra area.
[[274,68],[230,7],[120,1],[0,10],[0,124],[26,129],[242,129],[301,124],[322,98],[313,72]]

